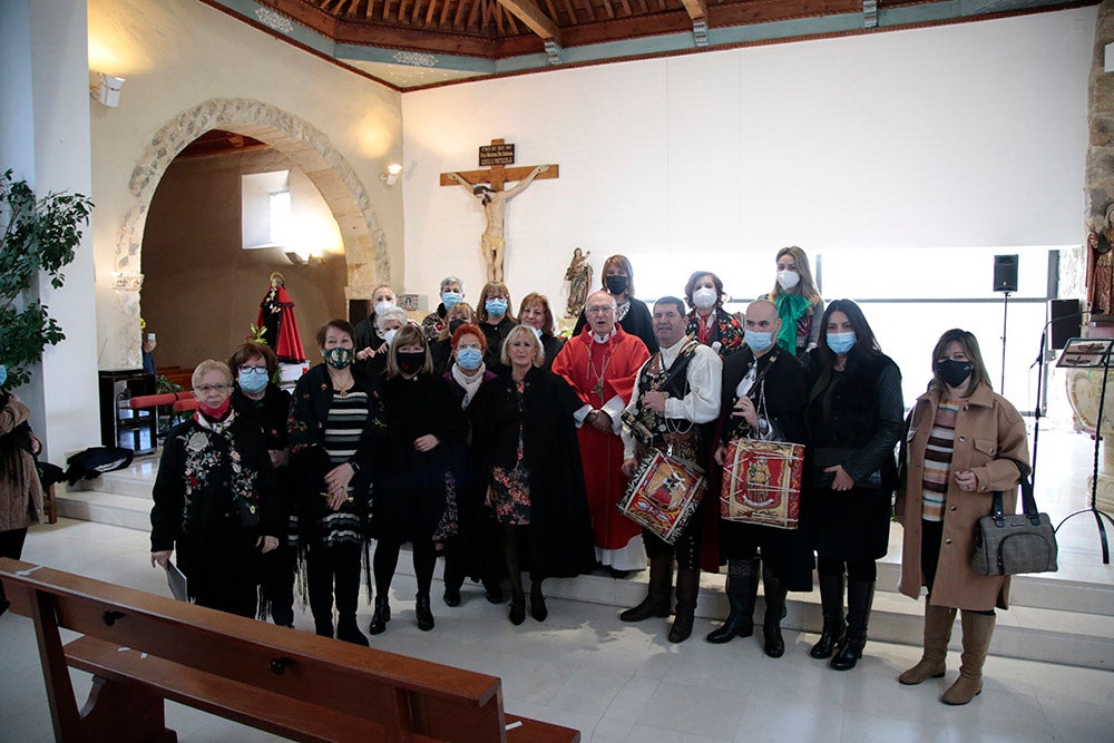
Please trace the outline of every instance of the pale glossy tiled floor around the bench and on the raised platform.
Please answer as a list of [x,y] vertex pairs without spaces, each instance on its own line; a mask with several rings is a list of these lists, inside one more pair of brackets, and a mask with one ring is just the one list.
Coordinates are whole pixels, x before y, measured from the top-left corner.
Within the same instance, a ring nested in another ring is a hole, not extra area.
[[[1042,432],[1044,489],[1057,490],[1056,470],[1061,491],[1078,492],[1068,483],[1081,477],[1072,467],[1079,457],[1071,453],[1082,446],[1077,437]],[[1055,509],[1069,512],[1078,497],[1056,499]],[[1046,507],[1054,510],[1052,502]],[[1065,535],[1068,566],[1085,579],[1110,581],[1112,568],[1097,558],[1093,521],[1076,520]],[[23,559],[165,594],[165,577],[149,567],[148,549],[143,532],[62,521],[35,529]],[[956,653],[946,678],[905,687],[896,676],[919,657],[915,647],[870,643],[859,667],[838,673],[809,658],[814,635],[788,633],[785,656],[772,659],[758,638],[709,645],[701,635],[712,625],[703,619],[690,641],[671,645],[664,619],[625,625],[614,607],[559,599],[550,600],[546,623],[528,618],[514,627],[506,605],[489,605],[478,588],[466,588],[456,609],[434,598],[437,628],[422,633],[413,623],[413,594],[412,579],[399,576],[394,618],[374,638],[377,647],[500,676],[509,711],[576,727],[585,741],[1114,741],[1111,672],[991,657],[984,693],[965,707],[947,707],[937,697],[956,676]],[[370,614],[361,612],[361,624]],[[312,620],[302,614],[296,626],[306,630]],[[72,675],[84,698],[88,676]],[[180,741],[272,740],[173,703],[167,718]],[[6,614],[0,741],[51,737],[31,623]]]

